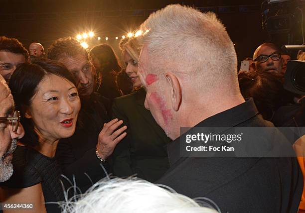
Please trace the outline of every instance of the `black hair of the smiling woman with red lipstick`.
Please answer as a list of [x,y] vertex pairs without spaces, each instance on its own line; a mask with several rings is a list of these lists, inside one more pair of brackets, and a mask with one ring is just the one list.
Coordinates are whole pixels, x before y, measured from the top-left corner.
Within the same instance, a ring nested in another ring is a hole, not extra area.
[[24,145],[35,146],[38,143],[34,123],[32,119],[24,117],[24,114],[31,105],[33,96],[37,93],[39,83],[50,74],[67,79],[76,85],[72,74],[63,64],[46,59],[18,65],[10,78],[9,88],[14,98],[15,107],[20,111],[20,122],[25,132],[21,139]]

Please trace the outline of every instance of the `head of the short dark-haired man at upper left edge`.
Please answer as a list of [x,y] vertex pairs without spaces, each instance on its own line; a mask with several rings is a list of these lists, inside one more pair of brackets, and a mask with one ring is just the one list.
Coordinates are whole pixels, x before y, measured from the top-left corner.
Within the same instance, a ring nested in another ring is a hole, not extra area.
[[0,62],[2,63],[0,75],[7,84],[16,66],[27,60],[28,52],[17,39],[0,36]]

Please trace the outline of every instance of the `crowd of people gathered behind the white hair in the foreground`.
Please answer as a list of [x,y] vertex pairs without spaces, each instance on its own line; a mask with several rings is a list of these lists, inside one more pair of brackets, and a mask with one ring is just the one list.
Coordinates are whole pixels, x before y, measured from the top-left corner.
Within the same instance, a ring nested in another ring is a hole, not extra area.
[[302,157],[180,153],[180,127],[303,126],[303,96],[283,86],[290,53],[263,43],[238,72],[216,15],[179,4],[139,29],[120,42],[123,66],[107,44],[88,51],[65,37],[45,53],[0,36],[0,202],[39,213],[305,212]]

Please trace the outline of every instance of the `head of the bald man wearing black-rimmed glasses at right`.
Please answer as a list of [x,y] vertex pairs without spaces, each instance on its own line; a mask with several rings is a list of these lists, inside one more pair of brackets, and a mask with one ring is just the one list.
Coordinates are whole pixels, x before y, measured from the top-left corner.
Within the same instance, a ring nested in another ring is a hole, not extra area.
[[280,51],[273,43],[260,45],[253,54],[256,71],[281,73],[283,59]]

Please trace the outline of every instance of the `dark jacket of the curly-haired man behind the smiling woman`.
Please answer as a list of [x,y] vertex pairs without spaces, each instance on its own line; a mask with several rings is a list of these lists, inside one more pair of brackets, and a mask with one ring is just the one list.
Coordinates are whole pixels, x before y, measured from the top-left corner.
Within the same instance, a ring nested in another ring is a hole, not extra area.
[[59,140],[56,159],[63,174],[70,181],[75,178],[76,186],[83,193],[92,183],[106,176],[102,166],[111,173],[108,162],[101,165],[102,162],[95,153],[99,133],[103,124],[109,122],[110,114],[111,102],[98,93],[91,94],[90,99],[81,100],[81,111],[74,134]]

